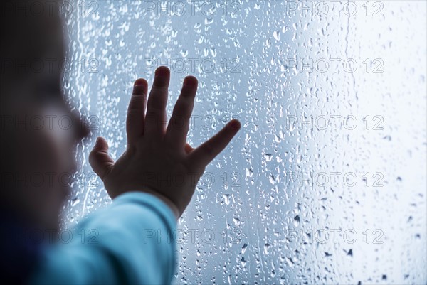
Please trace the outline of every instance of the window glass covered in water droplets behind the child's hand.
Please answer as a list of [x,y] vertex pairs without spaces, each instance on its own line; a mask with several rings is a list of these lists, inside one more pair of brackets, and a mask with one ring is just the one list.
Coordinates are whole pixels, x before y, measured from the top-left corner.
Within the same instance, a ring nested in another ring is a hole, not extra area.
[[242,129],[174,235],[176,284],[426,282],[425,1],[76,1],[65,90],[93,138],[63,227],[110,203],[132,82],[199,78],[189,143]]

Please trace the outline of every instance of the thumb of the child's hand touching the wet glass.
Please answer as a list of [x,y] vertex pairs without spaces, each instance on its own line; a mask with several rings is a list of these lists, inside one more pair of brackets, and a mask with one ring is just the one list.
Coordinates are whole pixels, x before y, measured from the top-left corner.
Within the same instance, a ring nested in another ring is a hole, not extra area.
[[98,136],[95,146],[93,146],[92,151],[90,151],[89,163],[93,171],[97,173],[97,176],[100,176],[102,181],[114,165],[114,161],[111,156],[108,155],[107,141],[101,136]]

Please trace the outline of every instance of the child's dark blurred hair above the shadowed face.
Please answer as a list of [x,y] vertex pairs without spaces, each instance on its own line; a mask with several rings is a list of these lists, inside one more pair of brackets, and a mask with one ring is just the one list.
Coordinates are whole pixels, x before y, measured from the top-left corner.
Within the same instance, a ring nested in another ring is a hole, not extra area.
[[5,96],[23,78],[48,68],[49,45],[63,49],[59,3],[50,0],[0,2],[0,100],[4,104]]

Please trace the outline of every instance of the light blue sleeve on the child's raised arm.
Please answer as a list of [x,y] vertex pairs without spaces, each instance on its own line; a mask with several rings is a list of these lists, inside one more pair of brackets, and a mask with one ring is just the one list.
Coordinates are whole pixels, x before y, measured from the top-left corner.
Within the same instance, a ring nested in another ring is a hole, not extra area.
[[162,200],[122,194],[73,232],[60,232],[60,242],[44,251],[29,283],[171,284],[175,232],[176,217]]

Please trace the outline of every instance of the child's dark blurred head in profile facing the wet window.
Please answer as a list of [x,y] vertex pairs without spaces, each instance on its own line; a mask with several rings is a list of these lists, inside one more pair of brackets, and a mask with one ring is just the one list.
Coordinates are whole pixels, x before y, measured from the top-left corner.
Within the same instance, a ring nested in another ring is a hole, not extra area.
[[0,207],[31,226],[57,229],[73,152],[88,135],[61,91],[65,44],[58,5],[6,1],[0,18]]

